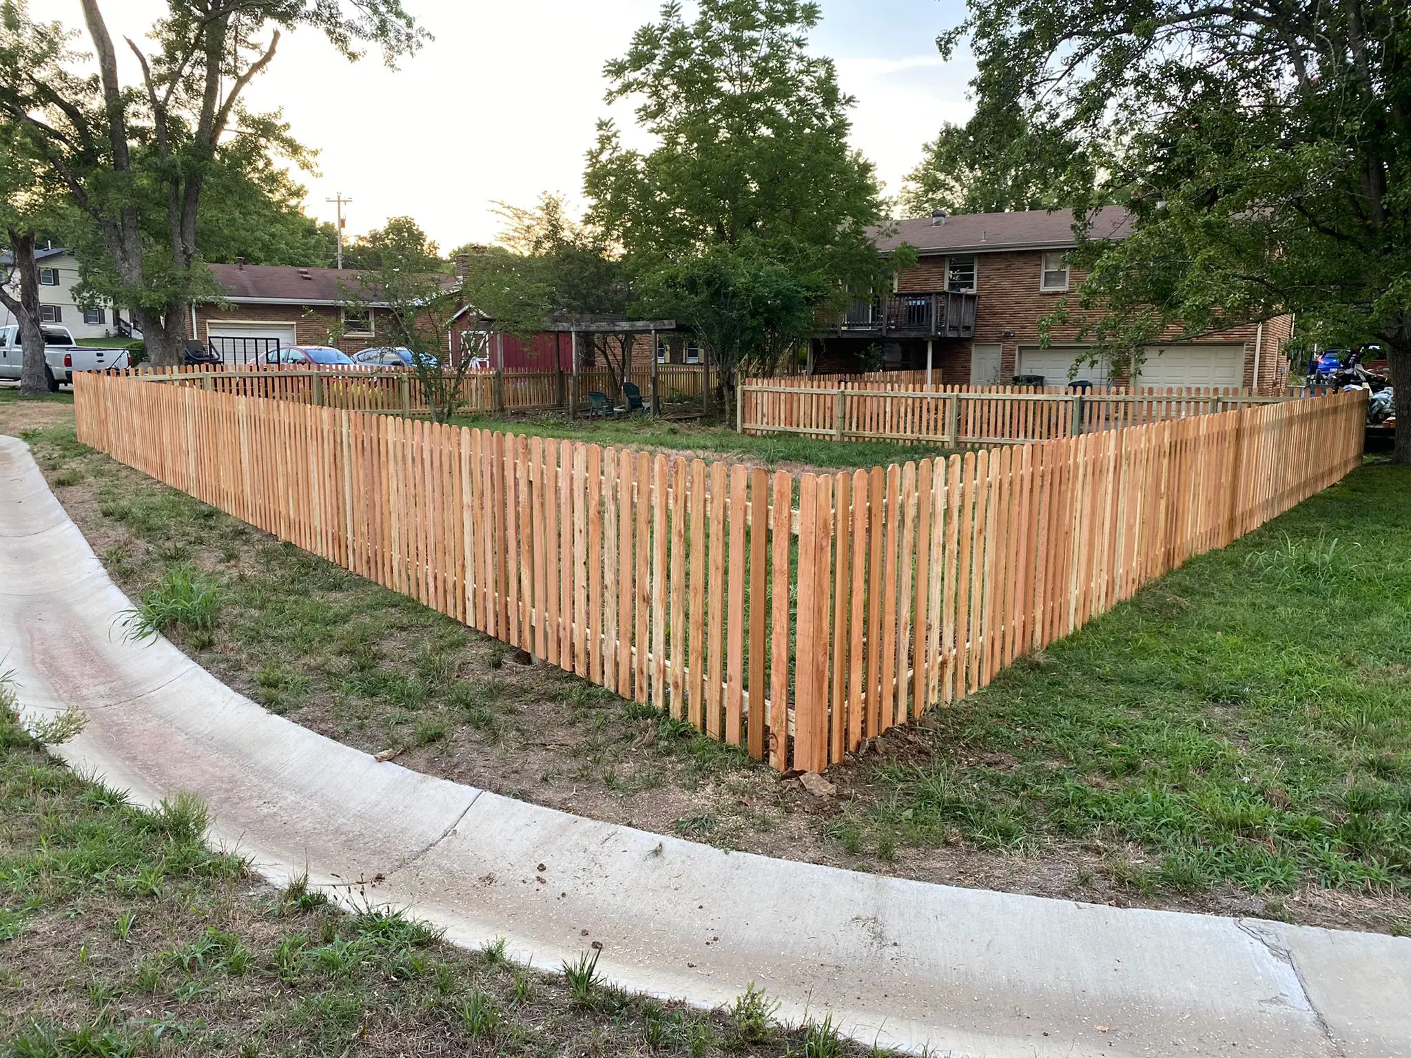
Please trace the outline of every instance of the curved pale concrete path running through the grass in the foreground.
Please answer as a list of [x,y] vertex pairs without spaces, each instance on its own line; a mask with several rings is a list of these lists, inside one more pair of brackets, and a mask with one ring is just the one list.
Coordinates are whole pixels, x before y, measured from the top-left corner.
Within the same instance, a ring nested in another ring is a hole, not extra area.
[[[725,853],[377,763],[265,712],[130,607],[23,443],[0,437],[0,670],[87,711],[61,748],[155,803],[200,794],[274,880],[409,906],[557,969],[714,1006],[755,980],[790,1021],[948,1055],[1411,1055],[1411,940],[951,889]],[[540,868],[540,865],[543,865]]]

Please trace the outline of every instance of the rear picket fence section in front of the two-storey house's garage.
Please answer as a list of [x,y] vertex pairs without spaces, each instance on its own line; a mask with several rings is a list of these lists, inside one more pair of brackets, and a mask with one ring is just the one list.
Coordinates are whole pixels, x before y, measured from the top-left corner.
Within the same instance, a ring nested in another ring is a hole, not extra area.
[[[886,372],[916,374],[916,372]],[[838,442],[1015,444],[1300,399],[1246,389],[959,387],[851,375],[751,378],[737,389],[744,433]],[[810,385],[810,381],[813,382]]]

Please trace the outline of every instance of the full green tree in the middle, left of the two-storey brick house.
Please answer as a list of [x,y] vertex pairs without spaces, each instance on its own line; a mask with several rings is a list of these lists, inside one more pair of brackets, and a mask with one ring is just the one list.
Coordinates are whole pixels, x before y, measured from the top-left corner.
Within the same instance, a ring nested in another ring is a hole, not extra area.
[[[587,219],[622,247],[634,279],[666,269],[658,303],[672,289],[691,305],[707,289],[727,296],[752,268],[799,265],[800,289],[821,281],[840,300],[888,274],[869,230],[883,220],[876,178],[848,147],[852,99],[832,61],[807,49],[818,17],[800,0],[701,0],[686,21],[667,3],[607,63],[608,102],[639,100],[636,121],[658,145],[626,150],[612,121],[598,123]],[[701,336],[708,354],[737,347],[724,334]],[[734,367],[721,364],[727,405]]]

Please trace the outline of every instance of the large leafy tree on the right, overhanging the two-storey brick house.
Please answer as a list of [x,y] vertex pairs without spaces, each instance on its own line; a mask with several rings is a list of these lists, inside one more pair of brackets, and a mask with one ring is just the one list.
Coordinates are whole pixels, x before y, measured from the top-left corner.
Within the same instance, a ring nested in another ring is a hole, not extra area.
[[[1120,365],[1298,313],[1381,341],[1411,422],[1411,32],[1387,0],[971,0],[981,100],[1103,154],[1133,234],[1088,244],[1077,303]],[[1091,193],[1071,205],[1091,207]],[[1295,346],[1297,348],[1297,346]],[[1411,430],[1395,458],[1411,463]]]

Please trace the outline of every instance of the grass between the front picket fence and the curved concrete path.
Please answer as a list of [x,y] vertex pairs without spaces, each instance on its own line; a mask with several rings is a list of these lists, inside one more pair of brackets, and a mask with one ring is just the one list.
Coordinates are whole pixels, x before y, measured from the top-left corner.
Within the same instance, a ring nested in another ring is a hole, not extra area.
[[271,711],[409,767],[775,856],[1411,930],[1397,896],[1411,886],[1407,468],[1367,466],[1191,560],[831,769],[838,794],[820,800],[76,444],[72,425],[25,436],[182,649]]

